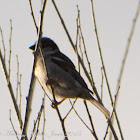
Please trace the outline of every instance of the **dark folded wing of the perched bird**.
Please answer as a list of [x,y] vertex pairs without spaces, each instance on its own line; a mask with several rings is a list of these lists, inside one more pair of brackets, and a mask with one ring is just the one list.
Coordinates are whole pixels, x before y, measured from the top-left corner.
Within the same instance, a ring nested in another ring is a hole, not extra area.
[[52,61],[55,64],[57,64],[59,67],[61,67],[61,69],[72,75],[77,82],[79,82],[82,86],[88,89],[84,79],[81,77],[80,73],[75,69],[74,64],[67,56],[65,56],[60,51],[53,53],[51,56]]

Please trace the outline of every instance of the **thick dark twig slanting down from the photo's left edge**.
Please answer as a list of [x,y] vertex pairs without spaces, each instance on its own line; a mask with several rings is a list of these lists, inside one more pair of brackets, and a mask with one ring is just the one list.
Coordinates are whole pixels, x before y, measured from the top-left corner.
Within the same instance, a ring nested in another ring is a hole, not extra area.
[[13,92],[12,84],[9,81],[9,75],[8,75],[7,68],[6,68],[6,63],[5,63],[5,60],[2,56],[1,50],[0,50],[0,59],[1,59],[1,62],[2,62],[4,74],[5,74],[5,77],[6,77],[7,86],[8,86],[8,89],[9,89],[9,92],[10,92],[10,95],[11,95],[11,98],[12,98],[12,101],[13,101],[13,104],[14,104],[14,108],[15,108],[15,111],[16,111],[16,114],[17,114],[17,117],[18,117],[18,120],[19,120],[19,124],[20,124],[21,129],[22,129],[22,125],[23,125],[22,118],[21,118],[21,115],[20,115],[18,105],[16,103],[16,99],[15,99],[15,95],[14,95],[14,92]]

